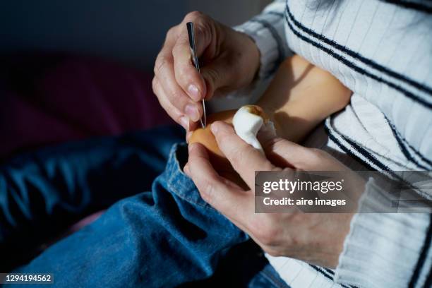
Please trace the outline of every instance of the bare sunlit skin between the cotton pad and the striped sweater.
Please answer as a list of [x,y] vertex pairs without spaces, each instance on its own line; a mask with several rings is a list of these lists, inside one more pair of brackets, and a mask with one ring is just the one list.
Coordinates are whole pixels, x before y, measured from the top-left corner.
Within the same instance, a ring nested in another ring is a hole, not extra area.
[[300,143],[321,121],[346,107],[351,95],[328,71],[295,55],[280,64],[257,104],[278,136]]

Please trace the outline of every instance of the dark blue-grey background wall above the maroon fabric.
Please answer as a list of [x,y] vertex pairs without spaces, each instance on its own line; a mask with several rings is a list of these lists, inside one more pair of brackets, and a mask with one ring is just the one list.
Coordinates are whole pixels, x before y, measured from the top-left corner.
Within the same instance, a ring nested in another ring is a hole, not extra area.
[[269,0],[38,0],[0,2],[0,54],[71,52],[151,70],[167,30],[199,10],[227,25]]

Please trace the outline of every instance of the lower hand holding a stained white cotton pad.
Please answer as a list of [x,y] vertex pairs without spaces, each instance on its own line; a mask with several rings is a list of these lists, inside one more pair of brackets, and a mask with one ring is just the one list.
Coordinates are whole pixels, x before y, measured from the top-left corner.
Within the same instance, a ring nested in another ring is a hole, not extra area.
[[[211,126],[220,150],[246,184],[253,189],[255,171],[344,171],[348,168],[323,150],[304,148],[282,138],[261,139],[270,162],[236,136],[222,121]],[[275,166],[277,163],[278,166]],[[284,168],[291,169],[291,168]],[[189,145],[184,171],[191,176],[205,201],[248,233],[272,256],[289,256],[335,268],[352,214],[254,213],[253,190],[244,191],[215,172],[203,145]]]

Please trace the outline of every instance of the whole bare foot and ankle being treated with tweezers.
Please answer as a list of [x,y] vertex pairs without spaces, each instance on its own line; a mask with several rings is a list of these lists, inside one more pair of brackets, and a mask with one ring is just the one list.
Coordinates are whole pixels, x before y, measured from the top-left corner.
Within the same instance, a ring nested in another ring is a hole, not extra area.
[[[351,94],[327,71],[300,56],[292,56],[280,64],[275,78],[255,107],[275,124],[278,136],[300,142],[323,119],[344,108]],[[236,110],[229,110],[212,114],[208,124],[218,120],[232,124],[235,113]],[[244,186],[244,181],[218,148],[210,126],[194,130],[188,143],[203,144],[216,171]]]

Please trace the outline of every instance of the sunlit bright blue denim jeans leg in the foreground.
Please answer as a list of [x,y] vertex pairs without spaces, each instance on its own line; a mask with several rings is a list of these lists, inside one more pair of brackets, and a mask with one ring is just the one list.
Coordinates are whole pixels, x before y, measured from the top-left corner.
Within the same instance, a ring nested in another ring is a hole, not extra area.
[[59,286],[176,287],[212,275],[225,248],[248,239],[205,203],[174,145],[151,191],[112,205],[99,220],[15,272],[51,272]]

